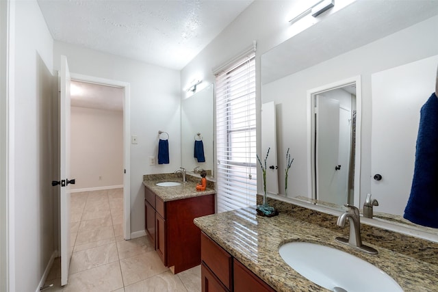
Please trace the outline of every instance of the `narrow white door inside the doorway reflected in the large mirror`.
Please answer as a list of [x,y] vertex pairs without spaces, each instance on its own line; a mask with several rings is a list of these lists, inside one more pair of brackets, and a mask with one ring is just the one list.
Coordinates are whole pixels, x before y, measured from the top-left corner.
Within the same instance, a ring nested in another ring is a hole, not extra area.
[[[334,204],[345,204],[337,196],[339,165],[339,101],[316,97],[316,199]],[[347,165],[341,165],[344,168]]]

